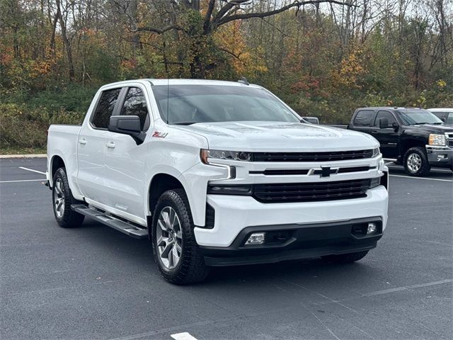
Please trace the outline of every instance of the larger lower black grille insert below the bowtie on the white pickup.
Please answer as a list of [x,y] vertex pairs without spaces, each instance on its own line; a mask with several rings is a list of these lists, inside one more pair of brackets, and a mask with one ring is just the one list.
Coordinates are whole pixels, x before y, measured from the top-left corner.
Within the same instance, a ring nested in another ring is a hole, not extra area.
[[253,197],[263,203],[314,202],[362,198],[371,187],[371,179],[319,183],[255,184]]

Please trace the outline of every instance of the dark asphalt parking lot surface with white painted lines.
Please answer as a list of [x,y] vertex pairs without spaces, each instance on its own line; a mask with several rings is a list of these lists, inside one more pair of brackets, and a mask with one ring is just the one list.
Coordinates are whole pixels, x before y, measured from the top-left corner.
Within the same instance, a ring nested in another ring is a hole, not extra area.
[[389,224],[362,261],[216,268],[176,286],[146,240],[88,219],[59,228],[45,159],[1,159],[0,338],[452,339],[452,172],[389,166]]

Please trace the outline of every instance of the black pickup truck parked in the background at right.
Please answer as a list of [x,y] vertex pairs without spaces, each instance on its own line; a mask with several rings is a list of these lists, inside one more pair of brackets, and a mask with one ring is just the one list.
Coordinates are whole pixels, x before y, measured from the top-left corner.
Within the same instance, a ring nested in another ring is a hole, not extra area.
[[425,176],[432,165],[453,171],[453,126],[420,108],[357,108],[348,129],[369,133],[384,158],[396,159],[411,176]]

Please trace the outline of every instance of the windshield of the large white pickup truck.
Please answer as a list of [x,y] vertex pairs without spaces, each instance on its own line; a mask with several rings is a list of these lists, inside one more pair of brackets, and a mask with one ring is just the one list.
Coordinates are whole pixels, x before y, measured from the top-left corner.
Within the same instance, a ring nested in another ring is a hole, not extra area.
[[263,89],[222,85],[157,85],[154,97],[168,124],[264,120],[299,123],[292,111]]

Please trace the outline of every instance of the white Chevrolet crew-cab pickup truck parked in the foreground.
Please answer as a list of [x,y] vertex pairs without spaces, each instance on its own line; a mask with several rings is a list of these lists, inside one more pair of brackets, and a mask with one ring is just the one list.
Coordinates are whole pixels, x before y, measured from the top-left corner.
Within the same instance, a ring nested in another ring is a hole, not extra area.
[[47,153],[58,224],[149,237],[171,283],[210,266],[357,261],[386,227],[377,140],[306,123],[247,81],[102,86],[81,126],[50,126]]

